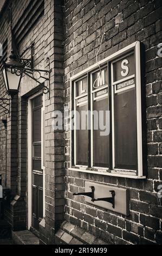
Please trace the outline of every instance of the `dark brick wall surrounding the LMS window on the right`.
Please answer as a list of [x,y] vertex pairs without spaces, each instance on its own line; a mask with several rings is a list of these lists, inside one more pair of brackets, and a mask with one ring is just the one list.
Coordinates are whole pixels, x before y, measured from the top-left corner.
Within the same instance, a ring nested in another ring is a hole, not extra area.
[[[70,77],[96,62],[100,40],[100,60],[131,44],[145,46],[145,87],[147,115],[147,179],[134,180],[68,170],[70,131],[66,132],[66,213],[67,221],[109,243],[151,244],[162,241],[162,205],[158,185],[162,184],[161,156],[161,58],[157,45],[162,41],[161,1],[66,0],[65,1],[65,102],[70,99]],[[97,181],[128,188],[130,215],[116,214],[85,203],[73,192],[84,191],[85,181]]]

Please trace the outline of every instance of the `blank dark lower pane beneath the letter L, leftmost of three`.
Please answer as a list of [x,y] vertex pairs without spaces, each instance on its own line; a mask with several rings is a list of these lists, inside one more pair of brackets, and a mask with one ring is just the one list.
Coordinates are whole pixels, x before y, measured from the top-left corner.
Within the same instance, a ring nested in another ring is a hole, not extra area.
[[[88,165],[87,118],[86,120],[83,120],[81,118],[81,112],[87,111],[87,104],[76,107],[76,111],[79,113],[78,117],[76,115],[76,124],[79,124],[79,121],[80,121],[80,130],[76,130],[76,164]],[[85,128],[86,128],[85,130],[81,129],[82,122],[83,124],[85,124]]]

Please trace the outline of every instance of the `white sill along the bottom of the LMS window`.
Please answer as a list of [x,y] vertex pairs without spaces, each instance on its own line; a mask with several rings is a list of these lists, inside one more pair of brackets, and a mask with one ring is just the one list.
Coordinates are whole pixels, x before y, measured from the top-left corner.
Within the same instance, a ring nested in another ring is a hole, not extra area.
[[68,168],[69,170],[74,170],[76,172],[82,172],[82,173],[93,173],[93,174],[100,174],[100,175],[106,175],[106,176],[114,176],[114,177],[122,177],[122,178],[129,178],[129,179],[146,179],[146,176],[137,176],[137,175],[128,175],[128,174],[121,174],[121,173],[111,173],[111,172],[102,172],[101,170],[87,170],[84,168]]

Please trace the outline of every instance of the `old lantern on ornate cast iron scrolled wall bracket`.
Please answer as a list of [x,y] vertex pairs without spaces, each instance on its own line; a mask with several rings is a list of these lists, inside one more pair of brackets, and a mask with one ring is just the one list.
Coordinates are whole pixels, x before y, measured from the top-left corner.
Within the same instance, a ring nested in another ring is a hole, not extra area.
[[[22,56],[28,50],[31,50],[31,57],[29,59],[24,59]],[[34,44],[31,44],[20,57],[15,53],[16,51],[11,51],[10,60],[8,62],[3,62],[2,73],[4,78],[5,87],[8,94],[12,97],[18,93],[20,87],[21,79],[23,75],[27,75],[34,81],[40,84],[43,89],[43,93],[49,95],[50,97],[50,63],[49,58],[47,58],[48,70],[34,69]],[[46,74],[46,76],[43,75]],[[41,81],[40,81],[41,80]],[[48,86],[44,85],[44,81],[48,81]]]

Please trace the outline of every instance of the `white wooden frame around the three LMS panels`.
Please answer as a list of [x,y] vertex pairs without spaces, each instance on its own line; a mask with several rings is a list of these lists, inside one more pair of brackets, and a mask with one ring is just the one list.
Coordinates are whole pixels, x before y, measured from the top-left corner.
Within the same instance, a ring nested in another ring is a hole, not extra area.
[[[114,143],[113,144],[113,148],[112,148],[112,155],[113,155],[113,169],[109,170],[108,168],[103,168],[103,167],[92,167],[90,169],[86,169],[87,166],[79,166],[79,165],[75,165],[75,167],[72,167],[72,143],[70,143],[70,170],[75,170],[78,172],[86,172],[86,173],[94,173],[94,174],[102,174],[102,175],[108,175],[108,176],[119,176],[119,177],[124,177],[124,178],[133,178],[133,179],[145,179],[146,176],[143,175],[143,164],[142,164],[142,117],[141,117],[141,70],[140,70],[140,42],[136,41],[133,42],[133,44],[126,46],[125,48],[122,48],[121,50],[119,50],[118,52],[113,53],[111,56],[102,59],[99,64],[100,65],[107,65],[108,62],[113,63],[113,60],[115,61],[116,58],[120,58],[121,54],[126,54],[127,52],[131,52],[131,50],[133,51],[135,48],[135,83],[138,84],[138,86],[136,86],[136,102],[137,102],[137,154],[138,154],[138,170],[136,170],[136,173],[134,170],[124,170],[124,169],[114,169]],[[118,58],[118,60],[119,60]],[[73,95],[73,88],[72,88],[72,84],[74,82],[74,84],[78,81],[81,80],[81,78],[83,78],[83,76],[87,76],[88,73],[90,72],[96,72],[96,69],[98,68],[98,64],[94,64],[92,66],[90,66],[89,68],[79,72],[78,74],[72,76],[70,78],[70,95]],[[112,64],[111,64],[111,72],[112,72]],[[92,79],[92,74],[90,76]],[[124,80],[128,79],[128,78],[132,78],[134,76],[130,76],[127,78],[124,78]],[[123,81],[124,81],[123,80]],[[91,82],[91,81],[90,81]],[[113,81],[112,82],[112,90],[114,90],[113,88]],[[120,82],[120,81],[119,81]],[[122,81],[121,81],[122,82]],[[75,95],[75,86],[74,85],[74,95]],[[132,85],[133,87],[134,85]],[[90,87],[90,105],[91,105],[91,109],[92,109],[92,87]],[[112,92],[112,96],[113,96],[113,92]],[[72,99],[70,101],[70,110],[72,113]],[[112,106],[113,106],[113,102],[112,102]],[[113,108],[113,107],[112,107]],[[74,134],[75,134],[75,103],[74,103]],[[72,115],[70,117],[70,119],[72,120]],[[91,114],[91,125],[93,124],[92,122],[92,114]],[[114,122],[113,122],[113,109],[112,109],[112,139],[114,139]],[[70,142],[72,142],[72,121],[70,122]],[[93,135],[91,133],[91,148],[93,149]],[[76,137],[74,139],[74,149],[75,149],[75,145],[76,145]],[[93,150],[91,150],[92,152]],[[74,150],[74,154],[75,154],[75,150]],[[93,153],[91,153],[93,154]],[[74,158],[76,157],[76,155],[74,156]],[[91,159],[92,159],[92,163],[93,163],[93,155],[91,155]],[[76,158],[75,158],[76,159]],[[91,164],[93,166],[93,164]],[[95,169],[95,170],[94,170]]]

